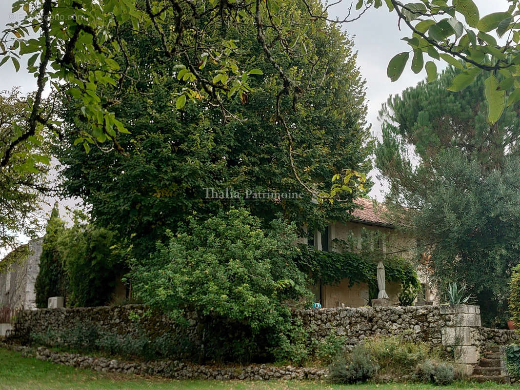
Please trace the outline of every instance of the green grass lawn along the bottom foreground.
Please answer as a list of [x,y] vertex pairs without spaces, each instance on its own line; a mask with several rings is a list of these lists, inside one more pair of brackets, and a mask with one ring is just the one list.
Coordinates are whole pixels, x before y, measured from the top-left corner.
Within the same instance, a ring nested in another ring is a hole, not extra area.
[[25,358],[18,352],[0,348],[0,390],[40,390],[40,389],[157,389],[157,390],[451,390],[451,389],[511,389],[509,385],[492,383],[457,383],[453,386],[438,387],[424,384],[385,385],[329,385],[315,382],[270,381],[174,381],[147,379],[135,375],[103,374],[89,370],[61,366],[46,361]]

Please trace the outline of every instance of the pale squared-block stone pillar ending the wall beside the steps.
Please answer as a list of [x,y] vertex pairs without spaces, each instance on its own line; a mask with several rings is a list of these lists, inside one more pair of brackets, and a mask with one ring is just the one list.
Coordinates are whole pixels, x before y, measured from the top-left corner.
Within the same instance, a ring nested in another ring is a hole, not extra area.
[[480,324],[480,307],[474,305],[440,305],[440,314],[446,318],[441,330],[443,346],[453,348],[453,357],[458,368],[471,375],[479,360],[472,328]]

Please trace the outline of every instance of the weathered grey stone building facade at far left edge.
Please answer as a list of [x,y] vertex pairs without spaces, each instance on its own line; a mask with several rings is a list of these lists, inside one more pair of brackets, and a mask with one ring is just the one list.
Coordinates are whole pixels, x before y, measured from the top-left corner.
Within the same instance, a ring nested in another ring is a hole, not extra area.
[[10,272],[0,274],[0,307],[35,309],[34,283],[40,271],[43,238],[29,241],[27,259],[12,264]]

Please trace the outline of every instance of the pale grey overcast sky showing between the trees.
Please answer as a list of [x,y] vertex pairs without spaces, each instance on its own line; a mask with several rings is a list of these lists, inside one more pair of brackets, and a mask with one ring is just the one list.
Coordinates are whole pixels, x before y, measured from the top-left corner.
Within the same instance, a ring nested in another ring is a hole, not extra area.
[[[0,2],[0,25],[12,22],[21,16],[20,13],[11,14],[10,3],[9,0],[1,0]],[[508,8],[506,0],[475,0],[475,3],[480,9],[480,17]],[[338,16],[343,19],[350,4],[350,1],[343,0],[343,3],[330,9],[330,16],[332,18]],[[19,12],[23,11],[20,10]],[[401,38],[410,34],[406,30],[406,26],[403,27],[402,31],[399,31],[395,13],[389,13],[384,7],[368,10],[359,20],[345,24],[343,30],[353,37],[358,51],[358,65],[361,74],[367,80],[367,120],[372,124],[373,134],[378,136],[381,134],[381,125],[377,116],[382,103],[387,100],[389,95],[399,94],[405,88],[424,79],[425,72],[414,74],[407,68],[395,83],[392,83],[386,76],[388,61],[397,53],[409,50],[409,46],[401,41]],[[20,87],[23,93],[29,93],[35,89],[36,80],[25,70],[26,62],[20,61],[20,63],[22,67],[18,73],[10,61],[0,68],[0,90]],[[437,66],[440,70],[443,68],[443,63],[438,62]],[[370,195],[378,200],[383,200],[384,189],[384,184],[376,180],[376,185]],[[49,200],[49,203],[54,203],[54,200]],[[73,202],[62,203],[71,204]]]

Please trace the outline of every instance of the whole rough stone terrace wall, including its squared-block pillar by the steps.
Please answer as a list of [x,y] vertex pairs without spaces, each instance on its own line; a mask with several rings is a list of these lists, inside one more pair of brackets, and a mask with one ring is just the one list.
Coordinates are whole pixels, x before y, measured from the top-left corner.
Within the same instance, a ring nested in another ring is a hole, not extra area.
[[[17,328],[25,334],[59,333],[81,323],[127,336],[145,334],[153,338],[168,333],[198,339],[196,317],[192,316],[188,327],[180,329],[168,317],[146,315],[147,311],[141,305],[26,310],[19,315]],[[505,345],[519,339],[513,331],[483,328],[480,309],[472,305],[310,309],[296,310],[294,317],[308,330],[309,342],[332,335],[342,337],[345,346],[352,348],[366,337],[406,335],[413,341],[443,347],[467,374],[488,345]]]

